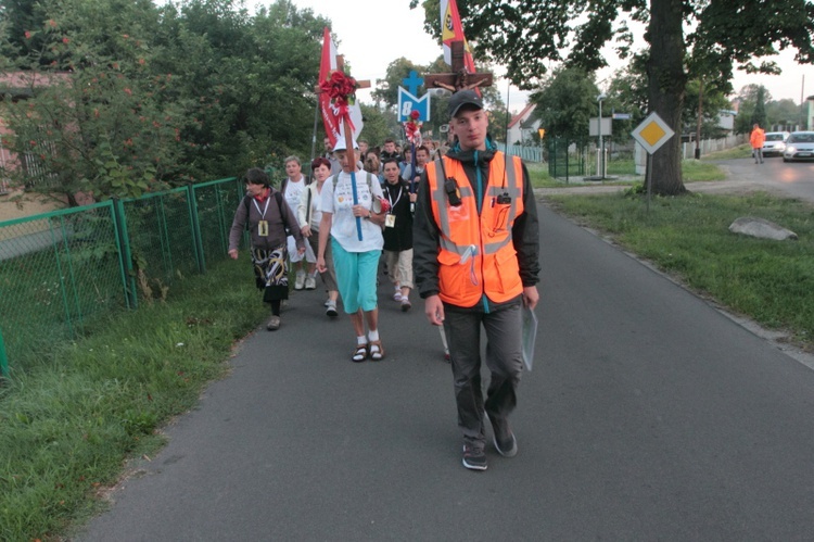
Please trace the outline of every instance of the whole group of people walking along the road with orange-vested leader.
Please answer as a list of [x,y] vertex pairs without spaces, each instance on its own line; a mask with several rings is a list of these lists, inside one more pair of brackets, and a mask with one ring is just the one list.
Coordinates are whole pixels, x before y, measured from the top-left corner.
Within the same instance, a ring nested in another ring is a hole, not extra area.
[[[518,451],[508,416],[517,404],[523,366],[521,310],[533,311],[539,299],[537,212],[525,165],[498,151],[487,135],[481,98],[460,90],[453,94],[448,113],[455,136],[451,147],[435,160],[428,152],[425,163],[418,161],[408,173],[409,181],[404,179],[399,156],[386,155],[381,160],[380,184],[374,172],[360,167],[344,139],[311,163],[309,185],[298,175],[298,160],[292,156],[296,165],[291,167],[287,160],[282,188],[295,187],[296,199],[294,192],[291,200],[281,197],[262,169],[250,169],[246,197],[238,205],[230,232],[229,255],[238,257],[247,228],[256,283],[264,301],[271,304],[269,329],[280,327],[281,304],[289,294],[287,256],[293,265],[304,260],[295,274],[295,289],[314,288],[318,273],[328,291],[329,315],[336,314],[341,298],[356,336],[354,362],[380,361],[385,355],[379,335],[380,261],[403,311],[411,306],[415,286],[424,300],[425,317],[433,326],[443,326],[448,343],[463,436],[462,464],[484,470],[486,419],[495,450],[506,457]],[[485,399],[482,329],[491,371]]]

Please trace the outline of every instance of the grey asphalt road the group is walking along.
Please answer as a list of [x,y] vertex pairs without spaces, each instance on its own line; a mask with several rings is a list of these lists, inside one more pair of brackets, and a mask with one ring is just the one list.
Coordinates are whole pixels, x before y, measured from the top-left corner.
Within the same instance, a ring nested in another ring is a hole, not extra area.
[[[540,206],[520,453],[460,465],[437,332],[382,288],[387,360],[298,293],[86,541],[811,540],[814,371]],[[249,277],[246,278],[249,280]]]

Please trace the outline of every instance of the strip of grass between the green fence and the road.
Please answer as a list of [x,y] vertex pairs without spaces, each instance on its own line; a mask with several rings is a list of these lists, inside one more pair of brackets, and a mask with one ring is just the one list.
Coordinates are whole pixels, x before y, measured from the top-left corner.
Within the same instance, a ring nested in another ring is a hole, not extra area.
[[266,314],[242,259],[176,282],[168,301],[54,345],[0,388],[2,540],[53,540],[87,519],[99,489],[163,444],[156,428],[196,403]]

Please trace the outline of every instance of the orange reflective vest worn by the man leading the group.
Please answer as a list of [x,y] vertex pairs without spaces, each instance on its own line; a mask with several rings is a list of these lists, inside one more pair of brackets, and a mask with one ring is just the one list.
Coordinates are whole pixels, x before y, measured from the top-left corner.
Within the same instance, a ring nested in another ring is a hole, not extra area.
[[[443,171],[442,163],[443,160]],[[508,167],[506,167],[508,165]],[[443,173],[442,173],[443,172]],[[446,178],[455,179],[461,204],[449,204]],[[445,303],[474,306],[485,294],[495,303],[523,292],[517,251],[511,241],[514,219],[523,213],[523,167],[496,152],[478,213],[475,189],[463,165],[446,156],[427,164],[433,218],[441,231],[438,295]],[[483,179],[486,182],[486,179]]]

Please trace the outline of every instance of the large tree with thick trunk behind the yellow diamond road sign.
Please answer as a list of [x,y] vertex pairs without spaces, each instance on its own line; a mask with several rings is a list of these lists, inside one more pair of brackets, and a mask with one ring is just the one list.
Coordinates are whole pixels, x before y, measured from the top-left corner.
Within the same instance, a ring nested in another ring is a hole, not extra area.
[[[412,7],[418,3],[411,0]],[[422,4],[425,28],[438,36],[437,2],[424,0]],[[758,0],[650,0],[649,4],[640,0],[551,0],[545,8],[533,0],[472,0],[461,2],[459,9],[465,34],[476,53],[506,64],[509,78],[526,88],[537,84],[550,62],[565,61],[588,71],[607,65],[600,50],[613,39],[620,56],[626,58],[633,35],[625,21],[646,23],[648,109],[676,133],[681,133],[685,91],[691,78],[685,62],[688,51],[715,51],[725,80],[730,80],[736,64],[748,71],[776,73],[774,63],[759,61],[789,47],[797,49],[797,62],[814,62],[814,4],[806,0],[776,3],[771,10]],[[657,193],[686,190],[679,138],[653,154],[652,164]]]

